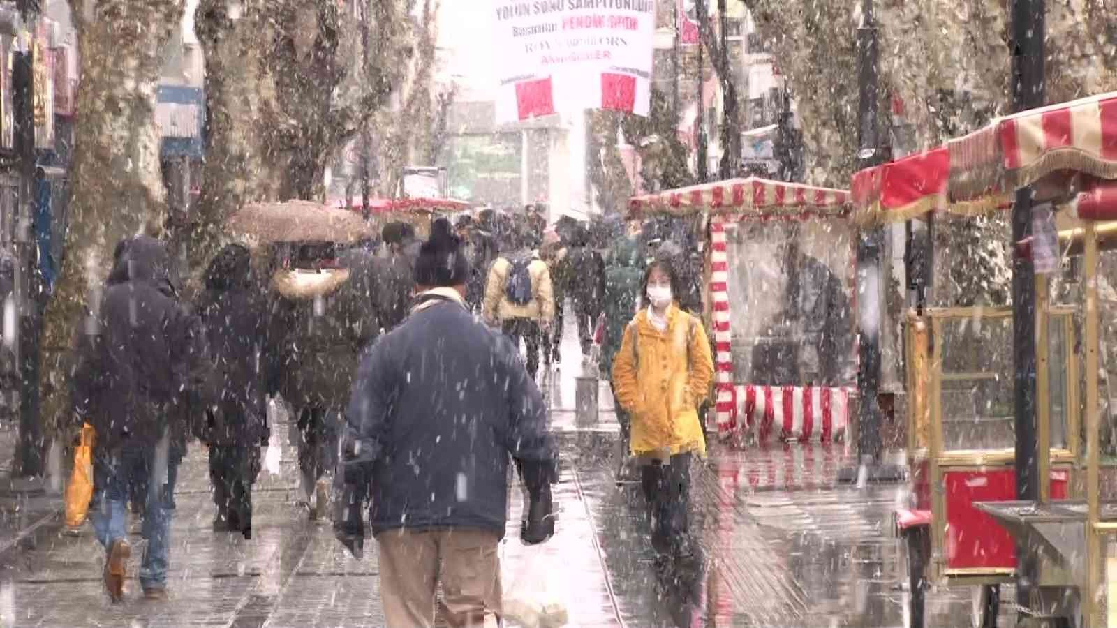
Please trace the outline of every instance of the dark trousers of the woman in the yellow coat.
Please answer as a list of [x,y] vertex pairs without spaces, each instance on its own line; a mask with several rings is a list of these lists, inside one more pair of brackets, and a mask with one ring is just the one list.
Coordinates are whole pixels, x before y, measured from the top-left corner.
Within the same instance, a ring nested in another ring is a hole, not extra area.
[[676,454],[670,464],[653,460],[642,467],[643,496],[651,511],[651,545],[660,554],[689,551],[690,457]]

